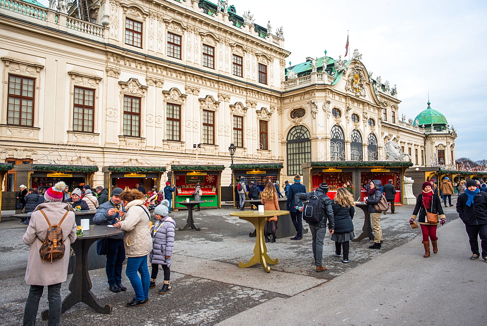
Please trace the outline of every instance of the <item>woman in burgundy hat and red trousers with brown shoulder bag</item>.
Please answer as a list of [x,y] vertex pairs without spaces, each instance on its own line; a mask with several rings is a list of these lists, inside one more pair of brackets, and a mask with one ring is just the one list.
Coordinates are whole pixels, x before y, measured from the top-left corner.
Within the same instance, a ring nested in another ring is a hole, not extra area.
[[428,258],[430,257],[430,238],[431,245],[433,246],[433,253],[438,252],[436,228],[438,224],[445,224],[445,214],[443,214],[440,198],[434,195],[431,183],[428,181],[423,182],[422,189],[423,192],[421,192],[416,199],[416,206],[414,207],[409,223],[412,225],[416,217],[419,216],[418,222],[421,225],[423,245],[425,247],[425,254],[423,257]]

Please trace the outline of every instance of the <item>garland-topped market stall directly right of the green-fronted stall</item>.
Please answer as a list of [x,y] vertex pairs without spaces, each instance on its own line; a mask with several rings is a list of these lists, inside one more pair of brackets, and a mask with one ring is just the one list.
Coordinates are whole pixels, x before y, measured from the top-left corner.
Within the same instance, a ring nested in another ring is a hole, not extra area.
[[[276,180],[279,180],[283,182],[283,180],[280,180],[282,168],[283,165],[281,163],[232,164],[230,165],[230,169],[232,169],[233,187],[244,177],[247,189],[250,186],[250,182],[254,181],[259,187],[259,191],[262,192],[265,184],[269,181],[276,182]],[[236,208],[238,206],[238,196],[235,191],[233,192],[233,203],[233,206]]]

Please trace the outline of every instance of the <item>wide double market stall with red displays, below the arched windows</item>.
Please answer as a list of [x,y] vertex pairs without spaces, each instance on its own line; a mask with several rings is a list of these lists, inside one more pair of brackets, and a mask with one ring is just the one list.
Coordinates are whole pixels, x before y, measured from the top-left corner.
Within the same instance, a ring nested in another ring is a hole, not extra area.
[[367,180],[380,180],[385,185],[392,179],[397,191],[395,202],[402,203],[402,180],[406,169],[411,165],[411,162],[307,162],[301,165],[302,184],[306,186],[306,190],[314,191],[322,182],[326,182],[328,196],[334,199],[338,188],[351,181],[355,186],[354,199],[363,201],[367,193],[363,186]]

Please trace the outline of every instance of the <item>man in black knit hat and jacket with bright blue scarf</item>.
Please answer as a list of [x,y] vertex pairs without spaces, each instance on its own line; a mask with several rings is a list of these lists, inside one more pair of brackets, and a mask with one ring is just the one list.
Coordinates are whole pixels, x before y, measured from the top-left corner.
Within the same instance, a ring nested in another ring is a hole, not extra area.
[[458,196],[456,211],[465,223],[470,249],[471,260],[480,257],[479,236],[482,245],[482,258],[487,263],[487,193],[481,192],[475,180],[468,180],[465,193]]

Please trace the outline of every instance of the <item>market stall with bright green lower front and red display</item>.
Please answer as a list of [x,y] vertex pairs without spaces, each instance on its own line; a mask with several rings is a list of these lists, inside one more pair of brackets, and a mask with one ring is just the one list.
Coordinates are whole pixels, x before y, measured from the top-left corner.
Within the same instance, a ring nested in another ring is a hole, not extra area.
[[[183,202],[187,199],[193,201],[193,193],[196,184],[199,183],[203,191],[201,196],[203,203],[200,207],[221,208],[221,180],[224,169],[223,165],[171,165],[171,180],[172,184],[176,185],[173,202]],[[187,209],[181,204],[175,204],[174,208]]]

